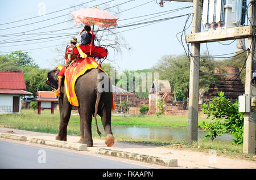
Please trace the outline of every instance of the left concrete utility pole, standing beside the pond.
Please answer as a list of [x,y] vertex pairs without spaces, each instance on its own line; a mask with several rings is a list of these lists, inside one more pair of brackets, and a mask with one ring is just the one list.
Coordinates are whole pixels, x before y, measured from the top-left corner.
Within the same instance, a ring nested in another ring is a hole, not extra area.
[[[192,33],[201,32],[201,0],[193,0]],[[191,43],[189,101],[188,101],[188,142],[197,142],[198,134],[198,102],[199,102],[199,67],[200,42]]]

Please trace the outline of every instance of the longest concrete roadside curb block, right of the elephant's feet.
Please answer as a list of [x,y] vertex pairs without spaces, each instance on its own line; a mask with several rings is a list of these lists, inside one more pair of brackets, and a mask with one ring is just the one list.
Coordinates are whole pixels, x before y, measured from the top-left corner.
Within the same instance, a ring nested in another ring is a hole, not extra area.
[[141,161],[151,164],[157,164],[167,167],[177,167],[177,159],[168,159],[155,156],[147,156],[138,153],[130,153],[124,151],[115,151],[113,149],[96,148],[95,153],[99,155],[113,156],[119,158],[127,158],[130,160]]

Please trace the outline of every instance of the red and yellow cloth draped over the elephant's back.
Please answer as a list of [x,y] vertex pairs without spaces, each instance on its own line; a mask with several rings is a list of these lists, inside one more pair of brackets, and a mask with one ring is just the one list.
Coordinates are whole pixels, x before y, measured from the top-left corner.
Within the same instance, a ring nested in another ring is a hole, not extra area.
[[[99,68],[100,70],[102,70],[101,66],[98,65],[98,63],[92,57],[79,58],[76,60],[75,63],[72,63],[72,65],[66,68],[64,84],[68,101],[71,105],[79,106],[79,101],[77,100],[75,92],[75,84],[77,78],[79,78],[81,75],[85,74],[87,70],[90,70],[92,68]],[[102,71],[104,72],[104,70]],[[113,94],[111,108],[115,109]]]

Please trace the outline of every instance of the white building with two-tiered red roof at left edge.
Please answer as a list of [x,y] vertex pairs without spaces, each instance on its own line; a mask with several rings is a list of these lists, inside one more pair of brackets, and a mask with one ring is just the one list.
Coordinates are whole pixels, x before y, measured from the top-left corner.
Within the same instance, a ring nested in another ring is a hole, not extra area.
[[21,97],[32,95],[24,90],[23,72],[0,72],[0,114],[20,113]]

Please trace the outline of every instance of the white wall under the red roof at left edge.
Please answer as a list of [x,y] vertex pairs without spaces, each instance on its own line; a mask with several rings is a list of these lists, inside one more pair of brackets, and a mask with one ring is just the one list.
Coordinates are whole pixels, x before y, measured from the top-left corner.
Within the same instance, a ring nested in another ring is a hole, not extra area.
[[19,113],[20,113],[20,96],[19,95],[0,95],[0,114],[13,113],[13,97],[19,97]]

